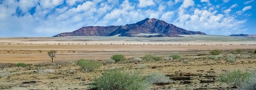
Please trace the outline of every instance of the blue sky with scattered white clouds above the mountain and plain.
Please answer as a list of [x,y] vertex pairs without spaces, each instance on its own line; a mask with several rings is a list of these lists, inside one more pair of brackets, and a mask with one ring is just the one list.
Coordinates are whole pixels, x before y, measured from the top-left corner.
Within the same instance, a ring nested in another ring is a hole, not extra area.
[[0,0],[0,37],[49,37],[156,18],[206,34],[256,34],[255,0]]

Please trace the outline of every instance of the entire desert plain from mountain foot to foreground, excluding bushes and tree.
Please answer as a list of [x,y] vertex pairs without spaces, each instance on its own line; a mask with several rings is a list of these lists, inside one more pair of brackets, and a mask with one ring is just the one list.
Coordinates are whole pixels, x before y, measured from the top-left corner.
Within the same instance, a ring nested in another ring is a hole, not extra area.
[[[109,69],[137,71],[143,76],[159,72],[173,81],[154,84],[152,90],[229,90],[218,82],[218,75],[234,70],[256,68],[255,37],[182,35],[184,37],[1,37],[0,89],[6,90],[86,90],[94,78]],[[220,57],[210,59],[210,50],[219,49]],[[237,53],[236,49],[242,49]],[[56,50],[55,63],[47,52]],[[227,54],[236,55],[235,62],[226,62]],[[106,62],[114,54],[123,54],[125,61]],[[158,61],[136,61],[133,58],[152,54]],[[165,60],[179,54],[180,59]],[[247,55],[240,58],[238,55]],[[76,62],[93,60],[101,68],[86,72]],[[17,67],[17,63],[26,63]],[[138,68],[145,65],[146,68]],[[38,69],[50,71],[37,73]],[[7,74],[7,75],[3,75]]]

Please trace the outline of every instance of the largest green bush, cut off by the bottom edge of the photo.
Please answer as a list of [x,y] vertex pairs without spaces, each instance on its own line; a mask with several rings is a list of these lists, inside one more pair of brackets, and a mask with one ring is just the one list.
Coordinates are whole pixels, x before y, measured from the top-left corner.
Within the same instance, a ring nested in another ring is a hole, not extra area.
[[137,72],[112,70],[93,80],[90,88],[96,90],[150,90],[151,84]]

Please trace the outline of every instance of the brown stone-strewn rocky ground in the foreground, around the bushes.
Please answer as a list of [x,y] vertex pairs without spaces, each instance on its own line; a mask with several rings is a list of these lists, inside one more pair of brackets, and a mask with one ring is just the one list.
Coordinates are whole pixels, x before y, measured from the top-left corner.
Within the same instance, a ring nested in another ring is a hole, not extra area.
[[[242,70],[249,71],[256,68],[256,55],[246,58],[238,57],[235,53],[234,63],[226,62],[227,53],[223,51],[217,60],[209,59],[209,54],[184,55],[178,60],[139,61],[129,58],[122,62],[107,63],[98,60],[102,67],[93,72],[86,72],[76,62],[56,61],[55,64],[29,64],[17,67],[15,64],[0,63],[0,89],[11,90],[85,90],[94,78],[98,78],[109,69],[123,69],[137,71],[143,76],[152,72],[159,72],[169,76],[170,83],[154,84],[152,90],[230,90],[227,84],[219,83],[219,74]],[[146,68],[139,68],[146,65]]]

